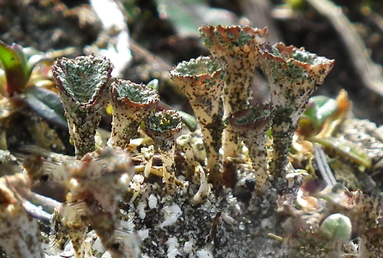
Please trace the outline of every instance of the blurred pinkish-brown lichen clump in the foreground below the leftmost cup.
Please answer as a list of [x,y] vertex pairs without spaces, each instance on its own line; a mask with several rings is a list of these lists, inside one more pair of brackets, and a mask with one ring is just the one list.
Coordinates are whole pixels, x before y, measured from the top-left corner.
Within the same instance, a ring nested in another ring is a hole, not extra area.
[[125,257],[126,243],[119,241],[122,231],[118,201],[128,189],[134,172],[126,150],[105,147],[86,154],[81,161],[61,165],[49,175],[70,190],[61,214],[76,257],[83,257],[87,225],[92,225],[112,257]]

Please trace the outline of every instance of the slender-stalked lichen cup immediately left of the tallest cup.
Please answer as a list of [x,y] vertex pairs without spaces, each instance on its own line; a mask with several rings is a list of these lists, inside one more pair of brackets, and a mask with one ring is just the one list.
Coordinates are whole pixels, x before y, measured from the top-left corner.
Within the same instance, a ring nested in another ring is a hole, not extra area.
[[209,181],[214,187],[222,184],[219,172],[219,148],[222,138],[221,91],[226,64],[211,57],[198,57],[178,63],[170,70],[170,76],[188,97],[197,117],[205,144]]

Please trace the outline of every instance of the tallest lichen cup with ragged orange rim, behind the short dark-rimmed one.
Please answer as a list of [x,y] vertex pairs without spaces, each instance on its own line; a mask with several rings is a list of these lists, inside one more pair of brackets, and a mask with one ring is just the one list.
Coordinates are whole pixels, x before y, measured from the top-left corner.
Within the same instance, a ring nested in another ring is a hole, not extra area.
[[253,29],[248,26],[204,25],[200,33],[205,46],[213,57],[223,58],[227,63],[227,77],[223,87],[223,183],[230,187],[235,182],[235,169],[228,157],[236,157],[240,142],[228,124],[232,112],[247,108],[250,85],[259,67],[259,44],[266,42],[267,28]]

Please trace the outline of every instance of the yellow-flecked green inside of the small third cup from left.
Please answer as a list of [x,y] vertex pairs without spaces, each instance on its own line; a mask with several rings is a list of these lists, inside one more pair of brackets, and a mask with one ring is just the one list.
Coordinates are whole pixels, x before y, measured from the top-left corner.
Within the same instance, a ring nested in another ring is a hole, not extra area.
[[174,111],[159,111],[152,113],[147,119],[147,125],[152,131],[162,133],[176,129],[182,123],[182,118]]

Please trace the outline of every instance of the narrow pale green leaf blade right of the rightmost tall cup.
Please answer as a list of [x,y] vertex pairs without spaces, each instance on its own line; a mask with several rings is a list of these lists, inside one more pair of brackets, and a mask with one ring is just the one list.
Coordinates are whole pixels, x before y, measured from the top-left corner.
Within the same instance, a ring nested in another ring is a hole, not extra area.
[[346,139],[336,137],[313,137],[310,138],[309,141],[319,143],[326,148],[330,148],[340,155],[364,167],[371,168],[372,166],[372,160],[368,157],[368,154]]

